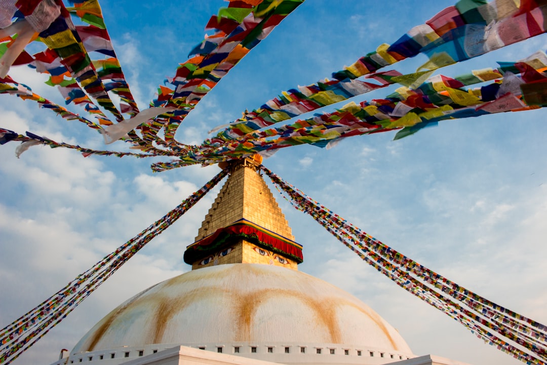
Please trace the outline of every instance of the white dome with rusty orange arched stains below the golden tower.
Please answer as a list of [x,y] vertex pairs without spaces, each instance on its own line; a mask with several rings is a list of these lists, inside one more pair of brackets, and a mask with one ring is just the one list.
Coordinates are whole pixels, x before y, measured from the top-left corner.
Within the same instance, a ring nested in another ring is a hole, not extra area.
[[260,264],[212,266],[150,287],[98,322],[71,354],[236,343],[343,344],[412,356],[399,333],[357,298],[299,271]]

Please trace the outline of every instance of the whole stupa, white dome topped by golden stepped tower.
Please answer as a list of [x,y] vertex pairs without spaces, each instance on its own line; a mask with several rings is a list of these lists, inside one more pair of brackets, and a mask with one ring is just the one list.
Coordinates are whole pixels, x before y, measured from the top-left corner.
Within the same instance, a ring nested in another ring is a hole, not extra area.
[[[191,271],[119,305],[54,364],[414,360],[397,330],[369,306],[298,271],[302,246],[260,164],[257,156],[220,165],[229,177],[184,253]],[[168,362],[169,354],[199,361]]]

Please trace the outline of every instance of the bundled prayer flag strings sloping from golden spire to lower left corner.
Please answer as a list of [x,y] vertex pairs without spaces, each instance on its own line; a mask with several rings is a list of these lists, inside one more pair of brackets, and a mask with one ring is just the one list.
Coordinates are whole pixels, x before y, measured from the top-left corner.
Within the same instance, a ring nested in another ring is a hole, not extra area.
[[0,363],[5,365],[11,363],[48,333],[110,275],[114,274],[121,265],[193,207],[227,173],[225,170],[220,171],[201,189],[183,200],[164,217],[105,256],[90,269],[75,277],[68,285],[37,305],[36,308],[0,329]]

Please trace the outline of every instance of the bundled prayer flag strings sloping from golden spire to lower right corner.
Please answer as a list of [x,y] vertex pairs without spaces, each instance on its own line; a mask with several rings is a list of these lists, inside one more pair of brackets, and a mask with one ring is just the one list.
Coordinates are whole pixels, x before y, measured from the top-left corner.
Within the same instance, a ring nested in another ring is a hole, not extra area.
[[538,365],[547,362],[547,326],[427,269],[347,222],[264,166],[261,170],[271,178],[290,204],[312,216],[329,233],[397,285],[443,311],[485,343],[495,345],[518,360]]

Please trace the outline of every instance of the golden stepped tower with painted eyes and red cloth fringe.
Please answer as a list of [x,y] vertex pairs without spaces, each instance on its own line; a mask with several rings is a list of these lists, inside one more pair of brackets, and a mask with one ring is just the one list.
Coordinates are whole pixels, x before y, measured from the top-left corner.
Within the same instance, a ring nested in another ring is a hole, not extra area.
[[230,175],[184,252],[193,269],[261,263],[297,269],[302,246],[294,241],[281,208],[259,175],[261,158],[230,161]]

